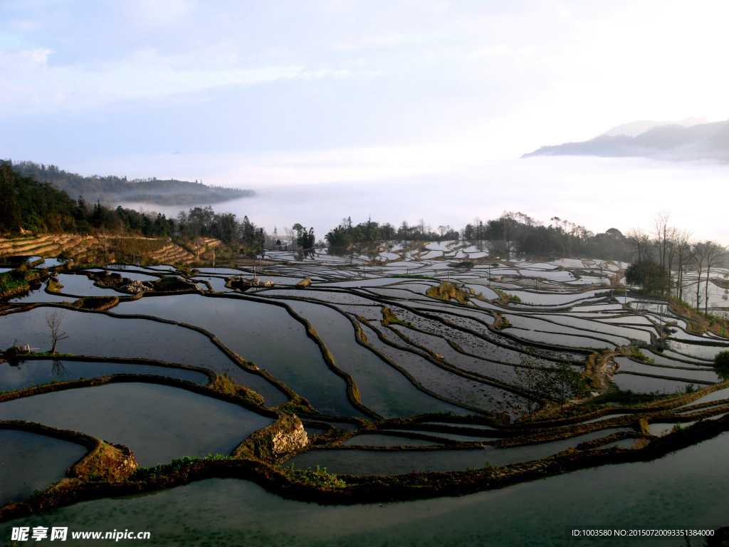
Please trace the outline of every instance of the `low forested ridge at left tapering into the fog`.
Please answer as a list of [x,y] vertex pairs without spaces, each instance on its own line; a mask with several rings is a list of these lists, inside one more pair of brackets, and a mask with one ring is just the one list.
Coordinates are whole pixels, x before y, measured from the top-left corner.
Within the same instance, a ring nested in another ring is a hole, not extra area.
[[157,205],[199,205],[255,194],[253,190],[208,186],[201,182],[175,179],[127,180],[125,176],[81,176],[63,171],[57,166],[31,161],[14,162],[12,168],[23,176],[33,176],[39,182],[49,182],[71,198],[76,199],[82,195],[87,202],[101,201],[106,205],[122,201],[141,201]]

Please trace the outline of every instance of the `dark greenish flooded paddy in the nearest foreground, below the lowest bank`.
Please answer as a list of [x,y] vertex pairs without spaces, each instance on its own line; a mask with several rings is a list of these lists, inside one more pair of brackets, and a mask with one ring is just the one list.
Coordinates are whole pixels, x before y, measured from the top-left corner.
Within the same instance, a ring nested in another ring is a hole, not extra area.
[[[204,546],[211,541],[286,546],[292,545],[292,529],[299,546],[578,545],[569,538],[574,527],[631,529],[636,523],[650,523],[662,529],[688,525],[712,529],[725,522],[728,449],[729,433],[724,433],[655,462],[621,465],[620,473],[609,465],[506,489],[407,503],[318,505],[287,500],[249,481],[212,478],[152,495],[71,505],[0,524],[0,534],[9,537],[13,526],[52,522],[63,522],[69,529],[86,529],[90,522],[98,529],[114,529],[128,521],[136,529],[154,530],[145,543],[160,546]],[[687,500],[677,492],[692,495]],[[529,524],[523,521],[525,514]],[[285,516],[285,527],[278,516]],[[596,547],[682,543],[675,539],[594,538],[585,543]]]

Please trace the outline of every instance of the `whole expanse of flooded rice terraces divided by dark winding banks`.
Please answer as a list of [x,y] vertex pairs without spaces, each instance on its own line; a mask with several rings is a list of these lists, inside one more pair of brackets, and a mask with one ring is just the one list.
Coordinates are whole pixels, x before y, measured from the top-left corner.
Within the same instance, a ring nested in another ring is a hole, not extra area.
[[[165,523],[184,521],[179,544],[279,545],[285,515],[301,545],[364,534],[372,545],[561,545],[566,527],[608,521],[729,524],[729,384],[713,365],[729,339],[611,287],[624,264],[486,260],[486,248],[441,242],[374,257],[268,252],[255,274],[78,268],[58,274],[60,293],[44,280],[0,311],[0,349],[22,348],[0,362],[0,426],[25,424],[0,427],[0,503],[20,503],[0,508],[0,532],[89,519],[147,527],[161,545],[178,533]],[[105,270],[192,284],[130,294],[88,275]],[[118,301],[81,300],[106,296]],[[42,354],[54,313],[56,356]],[[85,446],[27,422],[162,467],[107,478],[107,499],[90,500],[68,471]],[[64,477],[88,501],[34,509],[34,490],[50,486],[46,499]],[[130,496],[130,484],[155,493]],[[619,543],[590,543],[601,544]]]

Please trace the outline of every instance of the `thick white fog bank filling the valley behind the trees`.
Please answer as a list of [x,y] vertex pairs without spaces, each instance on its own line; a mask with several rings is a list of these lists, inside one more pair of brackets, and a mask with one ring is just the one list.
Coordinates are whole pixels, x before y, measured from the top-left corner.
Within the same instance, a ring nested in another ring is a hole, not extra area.
[[[557,216],[598,233],[608,228],[649,230],[655,214],[665,211],[671,214],[671,225],[691,230],[695,238],[729,244],[725,221],[729,166],[716,163],[525,158],[445,166],[437,174],[386,176],[362,171],[364,175],[358,179],[338,181],[332,180],[336,173],[319,163],[287,168],[281,182],[270,176],[254,185],[244,180],[249,178],[246,171],[249,175],[257,173],[258,178],[263,170],[248,164],[240,185],[252,187],[257,195],[218,203],[214,209],[240,217],[247,214],[268,233],[274,227],[283,233],[284,226],[296,222],[313,226],[317,239],[343,217],[362,222],[371,216],[374,221],[396,226],[403,220],[413,224],[422,218],[434,229],[439,225],[459,229],[475,217],[486,222],[504,211],[514,211],[546,224]],[[332,182],[311,182],[316,179]],[[181,209],[147,203],[127,205],[172,215]]]

